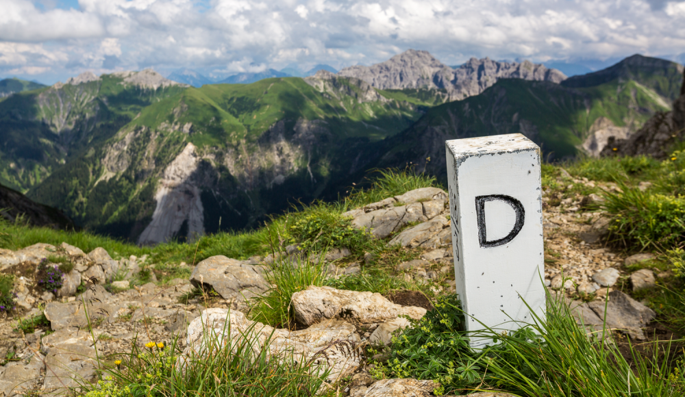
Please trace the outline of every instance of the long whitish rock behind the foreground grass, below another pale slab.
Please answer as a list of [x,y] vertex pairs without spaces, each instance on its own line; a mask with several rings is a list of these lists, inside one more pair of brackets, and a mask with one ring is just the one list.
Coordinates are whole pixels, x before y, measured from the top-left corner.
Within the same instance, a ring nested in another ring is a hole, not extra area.
[[330,381],[352,374],[360,365],[361,356],[357,346],[361,339],[355,326],[348,322],[327,320],[305,330],[290,332],[247,320],[240,311],[214,308],[203,311],[199,318],[190,322],[186,336],[188,347],[179,357],[179,367],[192,365],[186,357],[207,354],[210,346],[206,345],[206,335],[213,337],[216,343],[230,346],[229,354],[234,353],[234,349],[246,343],[246,340],[251,341],[249,343],[253,344],[255,351],[269,343],[272,357],[292,354],[296,358],[311,361],[312,370],[328,366]]

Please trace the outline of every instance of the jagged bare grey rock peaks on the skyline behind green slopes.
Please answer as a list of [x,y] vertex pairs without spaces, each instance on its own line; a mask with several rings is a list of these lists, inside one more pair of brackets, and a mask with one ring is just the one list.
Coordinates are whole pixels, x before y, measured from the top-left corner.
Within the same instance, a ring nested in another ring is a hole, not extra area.
[[542,80],[560,83],[566,76],[542,64],[497,62],[471,58],[453,69],[427,51],[407,50],[373,66],[350,66],[338,75],[364,80],[382,90],[433,88],[447,90],[451,101],[480,94],[498,79]]

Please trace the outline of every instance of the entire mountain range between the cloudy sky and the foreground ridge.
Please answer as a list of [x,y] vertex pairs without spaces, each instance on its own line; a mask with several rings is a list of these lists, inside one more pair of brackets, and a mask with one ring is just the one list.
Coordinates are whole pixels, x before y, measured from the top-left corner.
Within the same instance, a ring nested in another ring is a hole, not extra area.
[[84,74],[0,99],[0,183],[88,229],[155,244],[258,227],[345,194],[374,167],[442,179],[447,139],[521,132],[547,159],[596,155],[670,110],[681,84],[682,66],[640,55],[565,79],[530,62],[449,68],[413,50],[201,88],[153,71]]

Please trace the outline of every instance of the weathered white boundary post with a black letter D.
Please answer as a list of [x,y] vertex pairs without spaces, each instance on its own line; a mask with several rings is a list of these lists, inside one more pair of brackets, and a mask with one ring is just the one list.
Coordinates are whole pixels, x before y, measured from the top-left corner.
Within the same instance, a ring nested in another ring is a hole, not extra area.
[[[520,133],[448,140],[456,290],[466,330],[502,331],[544,318],[540,148]],[[524,303],[525,300],[525,303]],[[473,334],[472,334],[473,335]],[[471,337],[473,348],[492,337]]]

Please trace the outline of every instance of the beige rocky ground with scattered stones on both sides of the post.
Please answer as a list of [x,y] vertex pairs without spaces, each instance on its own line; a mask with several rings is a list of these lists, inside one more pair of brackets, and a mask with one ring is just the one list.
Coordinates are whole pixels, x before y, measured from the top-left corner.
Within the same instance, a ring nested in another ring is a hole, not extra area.
[[[594,184],[570,177],[564,177],[563,182],[569,184],[569,189],[574,184]],[[604,187],[615,189],[610,185]],[[601,212],[582,210],[598,200],[594,195],[564,200],[549,192],[543,196],[545,283],[551,290],[564,292],[579,322],[597,328],[606,320],[611,328],[643,339],[642,329],[653,318],[653,311],[614,288],[616,283],[630,283],[634,289],[649,287],[669,274],[655,275],[649,268],[632,274],[625,270],[653,256],[625,257],[603,246],[607,218]],[[388,244],[421,251],[420,259],[396,264],[397,277],[429,283],[436,294],[451,293],[455,283],[447,204],[445,192],[423,188],[353,209],[347,215],[353,218],[354,227],[368,229],[376,238],[389,238]],[[64,274],[62,287],[45,292],[38,286],[38,268],[41,261],[45,263],[45,258],[55,255],[66,257],[73,266]],[[282,253],[285,259],[301,255],[296,246],[289,246]],[[351,263],[346,260],[349,255],[345,248],[329,251],[325,258],[328,277],[360,272],[373,263],[371,254],[365,255],[364,261]],[[132,287],[136,281],[140,284],[140,271],[147,266],[145,257],[114,260],[102,248],[84,253],[66,243],[0,250],[0,271],[14,274],[18,300],[16,311],[0,320],[0,357],[6,357],[5,365],[0,367],[0,391],[8,397],[27,391],[54,394],[63,387],[76,387],[74,374],[81,379],[92,378],[98,359],[111,365],[114,355],[129,353],[133,344],[142,347],[151,341],[168,343],[174,335],[182,336],[179,347],[186,353],[201,351],[202,324],[222,333],[229,309],[234,313],[229,319],[232,335],[225,336],[233,339],[237,335],[234,331],[253,325],[243,314],[249,309],[247,299],[269,289],[264,272],[268,271],[265,265],[273,260],[273,255],[245,261],[220,255],[197,264],[190,279],[174,279],[160,285],[155,282],[154,273],[150,273],[149,283]],[[194,294],[193,288],[201,285],[214,293]],[[607,296],[610,299],[605,313]],[[343,355],[334,346],[341,340],[354,346],[365,340],[388,343],[393,331],[408,325],[399,315],[421,318],[430,309],[420,300],[408,299],[406,294],[390,298],[393,300],[371,292],[312,286],[292,296],[297,331],[261,325],[258,328],[262,335],[273,331],[273,351],[295,348],[308,359],[327,352],[327,359],[333,361],[331,380],[351,376],[343,387],[349,396],[432,395],[436,385],[431,381],[375,381],[365,371],[364,357],[359,351]],[[25,322],[40,314],[45,315],[53,331],[49,335],[45,329],[25,333],[18,326],[20,319]],[[260,343],[264,340],[266,337]]]

